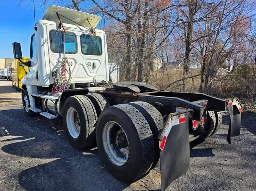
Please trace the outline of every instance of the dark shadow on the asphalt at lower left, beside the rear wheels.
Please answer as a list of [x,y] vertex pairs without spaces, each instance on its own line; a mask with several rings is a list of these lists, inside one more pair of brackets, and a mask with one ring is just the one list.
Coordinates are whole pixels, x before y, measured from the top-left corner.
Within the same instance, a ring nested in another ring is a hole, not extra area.
[[25,164],[33,167],[20,172],[18,180],[19,184],[28,191],[113,190],[110,182],[115,182],[115,190],[123,190],[129,186],[116,180],[102,167],[97,149],[77,151],[71,146],[58,143],[57,140],[39,137],[19,137],[9,140],[20,142],[5,145],[2,151],[34,158],[38,163],[42,163],[37,165],[33,159],[25,161]]

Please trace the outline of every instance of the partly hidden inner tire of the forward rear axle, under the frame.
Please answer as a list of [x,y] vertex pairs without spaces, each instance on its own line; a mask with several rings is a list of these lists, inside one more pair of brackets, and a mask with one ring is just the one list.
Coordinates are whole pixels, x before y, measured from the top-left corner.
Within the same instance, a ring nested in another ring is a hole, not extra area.
[[98,117],[105,108],[110,106],[108,100],[101,94],[87,94],[85,96],[93,103]]

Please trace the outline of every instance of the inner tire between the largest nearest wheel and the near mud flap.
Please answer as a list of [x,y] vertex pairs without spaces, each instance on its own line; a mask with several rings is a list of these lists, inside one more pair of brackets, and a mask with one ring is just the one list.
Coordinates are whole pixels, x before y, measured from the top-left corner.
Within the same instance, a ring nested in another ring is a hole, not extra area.
[[158,135],[160,131],[163,128],[163,116],[161,113],[152,105],[146,102],[131,102],[128,103],[129,105],[132,105],[136,109],[138,109],[143,116],[146,118],[155,142],[155,156],[154,156],[154,162],[152,164],[151,169],[155,168],[156,166],[160,165],[160,150],[159,150],[159,140]]

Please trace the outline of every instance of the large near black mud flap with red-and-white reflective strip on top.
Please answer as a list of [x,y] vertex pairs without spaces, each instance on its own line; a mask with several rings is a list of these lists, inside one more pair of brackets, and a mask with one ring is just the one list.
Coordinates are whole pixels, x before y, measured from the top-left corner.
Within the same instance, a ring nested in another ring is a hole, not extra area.
[[[177,124],[177,120],[181,123]],[[170,114],[159,139],[161,190],[165,191],[189,168],[188,114]]]

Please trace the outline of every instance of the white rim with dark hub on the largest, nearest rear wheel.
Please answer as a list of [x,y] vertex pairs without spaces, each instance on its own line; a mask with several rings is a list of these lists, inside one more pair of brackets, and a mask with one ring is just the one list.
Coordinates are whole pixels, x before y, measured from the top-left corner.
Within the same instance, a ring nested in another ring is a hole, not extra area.
[[121,125],[111,121],[104,125],[102,142],[108,158],[117,166],[123,166],[129,158],[129,142]]

